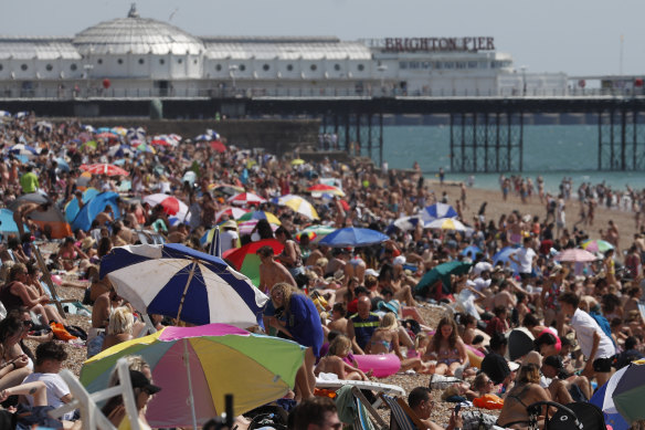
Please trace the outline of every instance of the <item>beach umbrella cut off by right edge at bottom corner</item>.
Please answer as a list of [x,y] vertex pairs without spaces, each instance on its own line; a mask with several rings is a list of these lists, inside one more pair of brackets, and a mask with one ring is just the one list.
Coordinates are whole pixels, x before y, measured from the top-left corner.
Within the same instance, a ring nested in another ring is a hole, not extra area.
[[[616,377],[616,375],[618,376]],[[612,382],[614,377],[615,386]],[[645,359],[632,361],[628,366],[616,371],[607,381],[605,405],[607,396],[611,396],[615,410],[625,421],[634,422],[645,419],[645,408],[643,408],[643,397],[645,396]],[[607,412],[613,412],[612,408],[607,409]]]

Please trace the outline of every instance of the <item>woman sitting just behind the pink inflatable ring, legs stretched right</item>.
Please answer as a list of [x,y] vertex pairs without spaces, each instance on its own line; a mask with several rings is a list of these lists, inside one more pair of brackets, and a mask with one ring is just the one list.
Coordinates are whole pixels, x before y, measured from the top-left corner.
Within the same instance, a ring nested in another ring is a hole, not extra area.
[[399,346],[399,323],[396,315],[388,312],[380,326],[374,331],[367,345],[367,354],[390,354],[393,352],[401,360],[401,371],[413,369],[420,374],[432,374],[434,366],[425,364],[419,357],[405,358]]

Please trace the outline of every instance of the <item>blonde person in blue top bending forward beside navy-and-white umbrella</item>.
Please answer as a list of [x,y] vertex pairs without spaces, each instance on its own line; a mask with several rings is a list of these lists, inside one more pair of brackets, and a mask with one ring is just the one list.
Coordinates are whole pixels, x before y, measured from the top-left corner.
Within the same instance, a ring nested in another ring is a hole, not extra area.
[[314,366],[325,339],[318,310],[309,297],[285,282],[277,283],[271,289],[271,300],[276,311],[284,308],[285,319],[278,321],[273,316],[268,318],[269,326],[307,347],[305,363],[296,375],[296,399],[308,399],[314,396],[316,387]]

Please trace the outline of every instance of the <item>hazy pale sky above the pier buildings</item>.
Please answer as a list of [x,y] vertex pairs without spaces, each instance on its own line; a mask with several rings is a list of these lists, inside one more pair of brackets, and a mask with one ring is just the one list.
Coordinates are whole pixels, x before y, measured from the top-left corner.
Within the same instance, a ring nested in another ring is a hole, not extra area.
[[[126,17],[129,0],[3,0],[0,33],[73,35]],[[494,36],[516,67],[645,74],[644,0],[139,0],[194,35]]]

